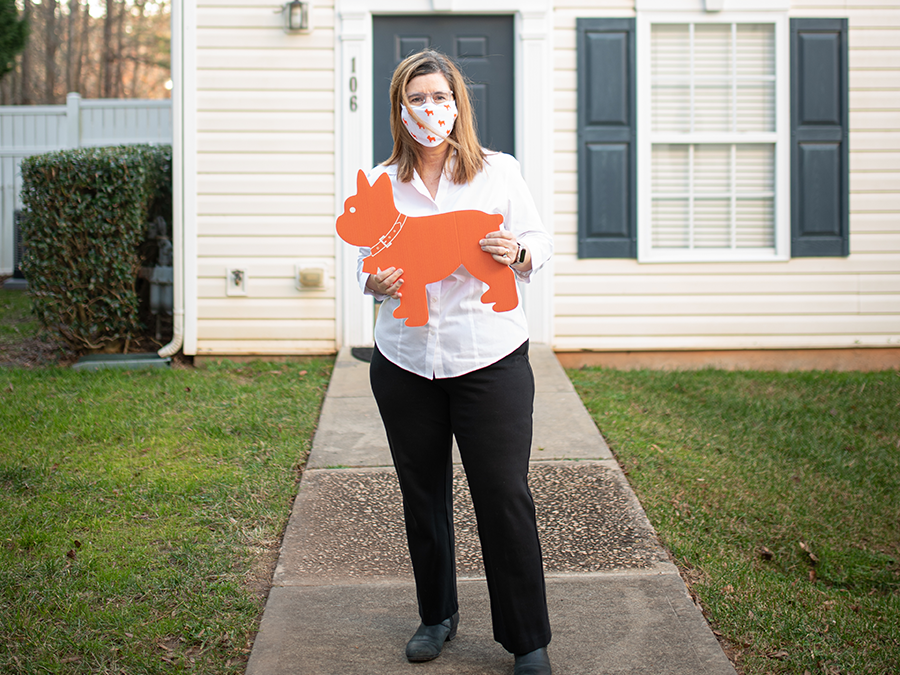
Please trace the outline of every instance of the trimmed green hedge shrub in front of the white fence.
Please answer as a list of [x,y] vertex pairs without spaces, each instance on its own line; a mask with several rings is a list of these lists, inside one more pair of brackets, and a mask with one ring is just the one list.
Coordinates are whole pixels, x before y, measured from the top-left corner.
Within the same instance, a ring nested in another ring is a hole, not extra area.
[[76,148],[22,162],[22,271],[40,322],[79,350],[119,351],[141,329],[138,246],[171,222],[171,146]]

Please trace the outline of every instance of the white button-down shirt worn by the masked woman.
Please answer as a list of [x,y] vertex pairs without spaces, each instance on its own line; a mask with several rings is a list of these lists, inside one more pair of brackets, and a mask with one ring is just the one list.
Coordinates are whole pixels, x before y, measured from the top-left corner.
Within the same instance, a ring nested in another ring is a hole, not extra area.
[[[383,173],[391,178],[397,210],[408,216],[467,209],[502,214],[502,229],[512,231],[531,252],[532,267],[528,272],[512,268],[520,282],[528,283],[553,254],[553,240],[541,223],[519,163],[510,155],[489,154],[484,169],[468,185],[458,185],[442,175],[434,198],[418,173],[409,183],[398,181],[396,165],[372,169],[369,184],[374,184]],[[457,377],[499,361],[528,339],[518,284],[518,306],[508,312],[495,312],[493,305],[481,302],[486,285],[462,266],[442,281],[425,287],[428,323],[406,326],[402,319],[393,316],[400,304],[398,300],[366,288],[369,275],[362,271],[362,261],[370,250],[360,248],[357,276],[366,294],[384,300],[375,324],[375,343],[392,363],[429,379]]]

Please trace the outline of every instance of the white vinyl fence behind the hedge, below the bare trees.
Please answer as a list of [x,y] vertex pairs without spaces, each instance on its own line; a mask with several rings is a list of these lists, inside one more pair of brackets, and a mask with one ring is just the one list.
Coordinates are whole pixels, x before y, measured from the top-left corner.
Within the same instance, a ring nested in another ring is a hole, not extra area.
[[83,146],[171,142],[170,100],[82,100],[69,94],[66,105],[0,106],[0,274],[12,274],[17,263],[15,214],[22,208],[24,158]]

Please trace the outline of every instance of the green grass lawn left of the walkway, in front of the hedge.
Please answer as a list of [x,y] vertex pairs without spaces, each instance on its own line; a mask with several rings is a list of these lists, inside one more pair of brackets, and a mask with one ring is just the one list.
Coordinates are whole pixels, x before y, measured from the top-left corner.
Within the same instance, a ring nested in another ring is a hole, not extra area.
[[331,363],[0,369],[0,672],[243,672]]

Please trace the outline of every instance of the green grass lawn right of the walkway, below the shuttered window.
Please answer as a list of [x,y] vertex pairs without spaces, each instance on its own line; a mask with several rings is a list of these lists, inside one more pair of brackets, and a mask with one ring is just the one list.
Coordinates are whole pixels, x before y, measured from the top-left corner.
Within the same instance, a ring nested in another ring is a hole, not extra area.
[[900,373],[569,376],[742,672],[900,673]]

